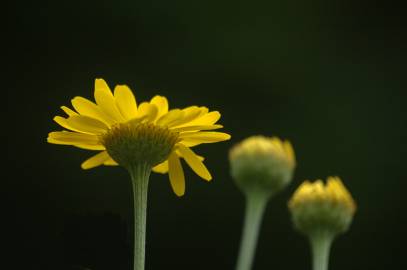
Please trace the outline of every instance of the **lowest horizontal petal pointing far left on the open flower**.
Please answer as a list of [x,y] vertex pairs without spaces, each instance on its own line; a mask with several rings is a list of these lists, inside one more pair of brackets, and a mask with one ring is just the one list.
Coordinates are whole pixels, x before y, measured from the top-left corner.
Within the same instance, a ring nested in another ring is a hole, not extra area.
[[101,145],[99,142],[99,137],[91,134],[69,132],[69,131],[54,131],[48,134],[48,142],[55,144],[66,144],[66,145]]

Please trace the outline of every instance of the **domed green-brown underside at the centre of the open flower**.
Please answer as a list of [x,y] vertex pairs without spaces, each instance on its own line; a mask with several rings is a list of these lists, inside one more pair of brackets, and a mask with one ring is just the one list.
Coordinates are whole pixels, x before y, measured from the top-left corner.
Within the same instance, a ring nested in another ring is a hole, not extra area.
[[152,123],[122,123],[102,136],[109,155],[121,166],[155,166],[165,161],[178,140],[178,133]]

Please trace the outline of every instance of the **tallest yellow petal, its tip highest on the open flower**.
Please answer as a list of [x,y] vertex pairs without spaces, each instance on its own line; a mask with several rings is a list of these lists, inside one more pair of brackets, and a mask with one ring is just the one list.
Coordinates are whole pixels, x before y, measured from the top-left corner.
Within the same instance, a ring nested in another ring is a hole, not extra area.
[[116,101],[110,91],[109,86],[103,79],[96,79],[95,80],[95,100],[96,104],[99,105],[101,110],[108,115],[109,117],[113,118],[115,122],[123,122],[124,117],[120,113],[119,109],[116,106]]

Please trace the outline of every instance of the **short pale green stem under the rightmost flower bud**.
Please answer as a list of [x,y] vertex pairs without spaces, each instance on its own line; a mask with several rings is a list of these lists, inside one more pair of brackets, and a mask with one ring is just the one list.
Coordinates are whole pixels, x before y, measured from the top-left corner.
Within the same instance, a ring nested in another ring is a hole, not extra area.
[[316,231],[310,235],[313,270],[328,270],[332,241],[333,235],[330,232]]

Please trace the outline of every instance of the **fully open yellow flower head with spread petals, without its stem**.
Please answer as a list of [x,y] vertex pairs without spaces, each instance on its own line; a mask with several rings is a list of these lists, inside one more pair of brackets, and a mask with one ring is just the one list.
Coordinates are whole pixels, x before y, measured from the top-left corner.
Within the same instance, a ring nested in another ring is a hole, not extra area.
[[230,139],[226,133],[209,131],[222,128],[216,124],[219,112],[198,106],[169,110],[163,96],[137,105],[128,86],[117,85],[112,93],[103,79],[95,80],[94,97],[96,103],[73,98],[74,110],[62,106],[67,117],[56,116],[54,120],[69,131],[51,132],[47,139],[49,143],[101,151],[83,162],[83,169],[146,163],[154,172],[168,173],[174,192],[181,196],[185,192],[183,158],[197,175],[211,180],[203,158],[191,147]]

